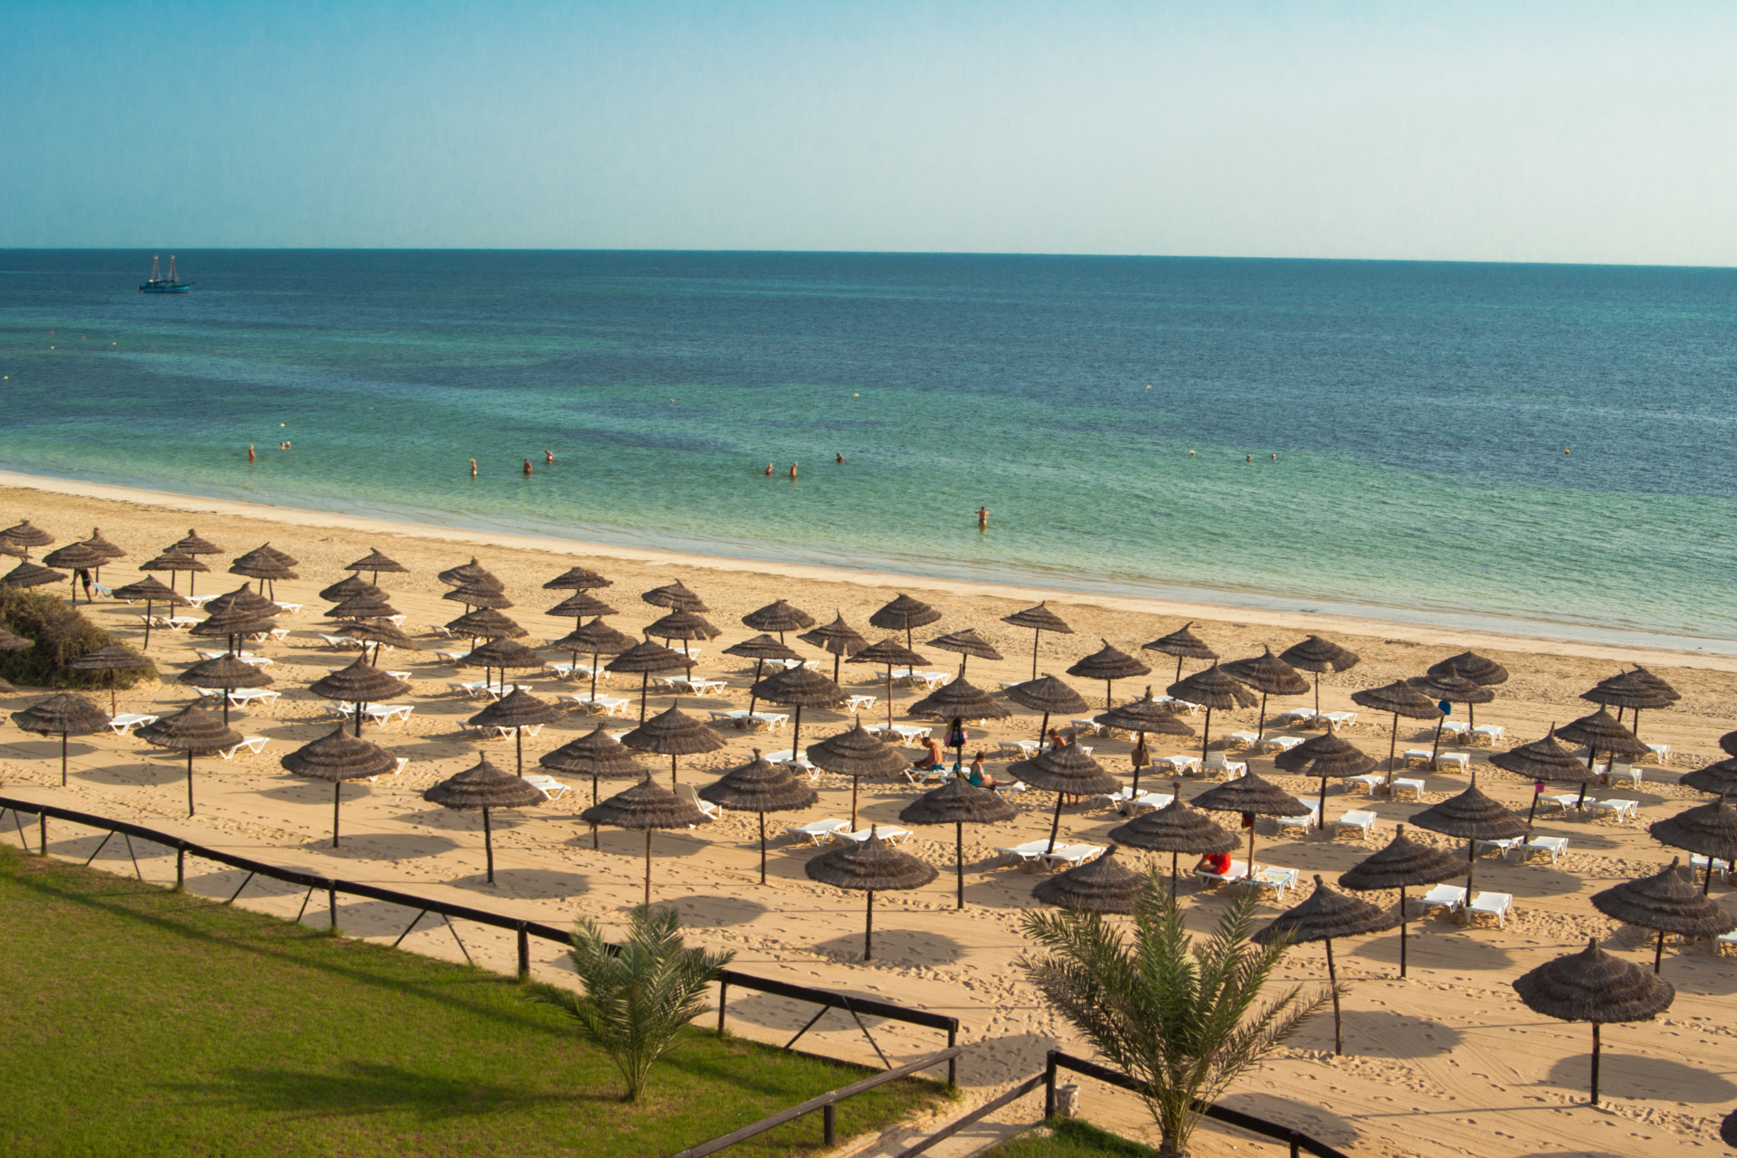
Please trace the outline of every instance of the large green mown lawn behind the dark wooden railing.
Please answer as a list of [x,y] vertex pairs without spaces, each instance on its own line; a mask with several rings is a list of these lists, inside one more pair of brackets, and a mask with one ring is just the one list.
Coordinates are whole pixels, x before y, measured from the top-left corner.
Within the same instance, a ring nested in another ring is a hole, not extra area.
[[[0,1153],[669,1155],[865,1076],[691,1031],[637,1106],[497,974],[0,845]],[[896,1082],[839,1134],[938,1104]],[[818,1149],[818,1115],[731,1155]]]

